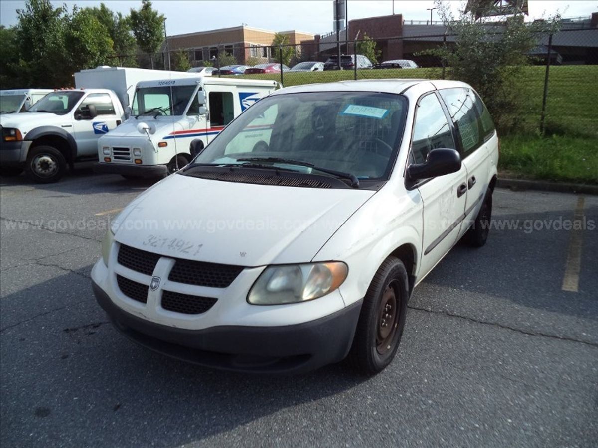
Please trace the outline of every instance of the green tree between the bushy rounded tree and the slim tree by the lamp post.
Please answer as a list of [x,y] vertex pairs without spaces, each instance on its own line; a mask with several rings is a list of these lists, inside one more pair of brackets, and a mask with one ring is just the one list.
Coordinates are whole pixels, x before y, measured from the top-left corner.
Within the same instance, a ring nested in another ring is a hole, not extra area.
[[[112,56],[119,66],[135,67],[137,44],[131,30],[130,20],[121,13],[113,13],[105,4],[91,8],[94,16],[108,30],[112,39]],[[116,65],[112,63],[111,65]]]

